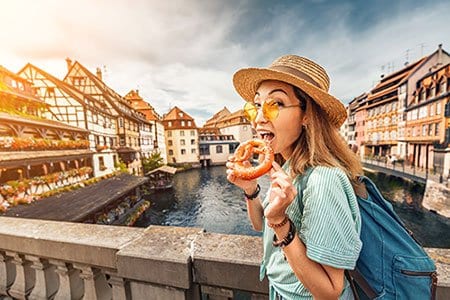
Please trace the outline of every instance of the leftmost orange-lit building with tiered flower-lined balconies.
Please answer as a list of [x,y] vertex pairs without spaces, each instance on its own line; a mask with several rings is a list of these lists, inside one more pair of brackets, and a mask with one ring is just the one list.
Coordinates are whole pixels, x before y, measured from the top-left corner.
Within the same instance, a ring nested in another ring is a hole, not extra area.
[[49,115],[32,83],[0,66],[0,211],[92,172],[88,131]]

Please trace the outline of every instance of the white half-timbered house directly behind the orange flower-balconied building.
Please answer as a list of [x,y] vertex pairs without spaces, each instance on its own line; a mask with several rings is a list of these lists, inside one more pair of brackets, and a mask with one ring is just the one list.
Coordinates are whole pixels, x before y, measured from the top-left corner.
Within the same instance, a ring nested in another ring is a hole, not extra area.
[[48,118],[89,131],[94,176],[114,172],[117,116],[112,105],[79,91],[32,64],[27,64],[18,74],[33,83],[37,94],[48,105]]

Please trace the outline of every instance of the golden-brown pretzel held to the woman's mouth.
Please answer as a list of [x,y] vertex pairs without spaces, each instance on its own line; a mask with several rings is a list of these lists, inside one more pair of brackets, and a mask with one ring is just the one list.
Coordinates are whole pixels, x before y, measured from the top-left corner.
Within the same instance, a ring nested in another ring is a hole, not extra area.
[[[254,153],[264,155],[262,162],[256,166],[245,166],[244,162],[248,161]],[[256,179],[269,172],[273,160],[273,149],[261,139],[252,139],[241,143],[230,158],[230,161],[234,162],[233,174],[245,180]]]

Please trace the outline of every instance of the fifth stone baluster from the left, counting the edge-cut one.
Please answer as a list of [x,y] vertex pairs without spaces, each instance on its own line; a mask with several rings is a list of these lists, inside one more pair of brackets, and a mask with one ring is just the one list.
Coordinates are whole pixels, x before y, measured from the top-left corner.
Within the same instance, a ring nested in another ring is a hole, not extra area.
[[73,266],[81,270],[80,278],[84,281],[85,299],[111,299],[111,287],[108,285],[105,274],[100,269],[82,264],[74,264]]

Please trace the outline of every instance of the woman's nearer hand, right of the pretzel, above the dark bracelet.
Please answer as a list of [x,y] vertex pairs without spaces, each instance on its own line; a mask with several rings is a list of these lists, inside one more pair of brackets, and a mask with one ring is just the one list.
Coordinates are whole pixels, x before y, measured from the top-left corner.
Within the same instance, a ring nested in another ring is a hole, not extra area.
[[278,224],[284,220],[286,208],[297,196],[297,189],[291,177],[276,162],[272,163],[270,180],[269,205],[264,210],[264,216],[269,223]]

